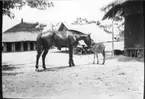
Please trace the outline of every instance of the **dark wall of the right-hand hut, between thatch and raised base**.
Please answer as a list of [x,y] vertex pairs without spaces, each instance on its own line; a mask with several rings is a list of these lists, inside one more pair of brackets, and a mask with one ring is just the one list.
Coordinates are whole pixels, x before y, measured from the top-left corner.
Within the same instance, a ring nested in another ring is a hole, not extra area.
[[144,47],[143,14],[132,14],[125,17],[125,48]]

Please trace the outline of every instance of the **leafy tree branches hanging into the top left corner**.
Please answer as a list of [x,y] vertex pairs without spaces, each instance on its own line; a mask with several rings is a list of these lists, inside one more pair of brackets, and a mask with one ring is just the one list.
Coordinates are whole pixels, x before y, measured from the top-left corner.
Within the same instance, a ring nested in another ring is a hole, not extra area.
[[53,7],[53,2],[48,0],[3,0],[3,15],[7,15],[10,18],[14,18],[14,13],[11,9],[21,9],[24,5],[30,6],[31,8],[37,8],[39,10],[45,10],[47,7]]

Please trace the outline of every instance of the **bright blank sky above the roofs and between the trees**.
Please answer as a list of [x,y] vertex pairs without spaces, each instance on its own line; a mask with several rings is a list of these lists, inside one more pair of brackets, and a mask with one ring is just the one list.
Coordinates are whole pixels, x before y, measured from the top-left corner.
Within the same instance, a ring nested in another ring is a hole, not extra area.
[[46,10],[38,10],[24,6],[21,10],[12,9],[14,19],[3,16],[3,32],[21,22],[39,22],[44,24],[56,24],[57,22],[71,23],[77,17],[88,20],[101,20],[104,12],[100,8],[113,0],[53,0],[54,7]]

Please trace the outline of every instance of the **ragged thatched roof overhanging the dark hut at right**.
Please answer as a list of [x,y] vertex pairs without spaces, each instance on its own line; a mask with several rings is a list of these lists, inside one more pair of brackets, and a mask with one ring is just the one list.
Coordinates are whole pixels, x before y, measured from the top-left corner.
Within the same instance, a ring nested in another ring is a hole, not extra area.
[[106,5],[105,7],[102,7],[101,8],[102,11],[108,10],[107,13],[104,15],[104,17],[102,18],[102,20],[106,18],[112,18],[113,11],[114,11],[114,16],[116,14],[118,14],[119,16],[124,16],[124,10],[123,10],[124,5],[134,1],[142,2],[144,0],[115,0],[109,3],[108,5]]

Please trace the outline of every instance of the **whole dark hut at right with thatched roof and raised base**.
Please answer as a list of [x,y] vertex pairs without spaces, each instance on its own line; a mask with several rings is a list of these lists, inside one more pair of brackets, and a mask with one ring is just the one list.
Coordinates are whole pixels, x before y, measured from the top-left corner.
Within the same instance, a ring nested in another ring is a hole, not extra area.
[[144,57],[144,0],[115,0],[102,10],[109,9],[103,20],[117,14],[125,18],[124,51],[126,56]]

